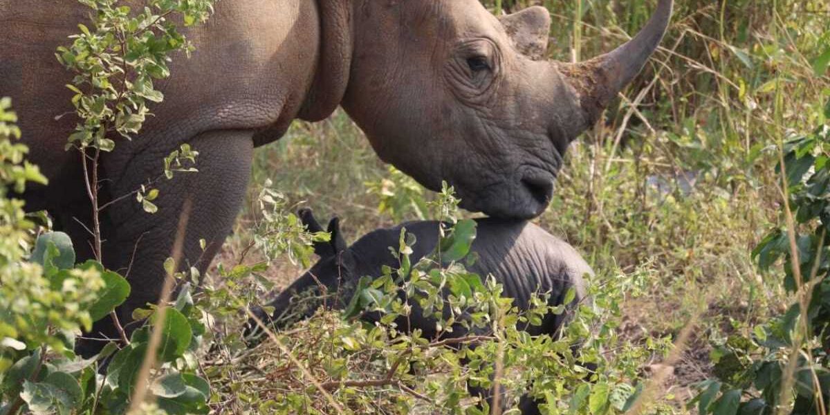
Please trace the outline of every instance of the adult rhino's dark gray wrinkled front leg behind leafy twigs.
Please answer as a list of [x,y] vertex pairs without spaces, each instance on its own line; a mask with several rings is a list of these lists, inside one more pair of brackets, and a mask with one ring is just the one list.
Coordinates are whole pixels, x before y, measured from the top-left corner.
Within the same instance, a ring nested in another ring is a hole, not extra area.
[[[188,143],[199,153],[198,173],[175,173],[173,179],[157,182],[159,198],[154,203],[158,212],[144,212],[133,198],[105,211],[105,265],[125,275],[132,287],[119,310],[120,321],[128,329],[134,328],[129,322],[136,308],[159,300],[165,276],[163,264],[173,256],[179,222],[183,223],[180,269],[195,266],[203,273],[232,231],[245,198],[251,173],[251,133],[211,131]],[[136,156],[121,179],[112,184],[110,192],[114,197],[129,194],[147,183],[148,178],[158,177],[164,156],[173,149],[146,151]],[[207,242],[204,251],[201,239]],[[117,333],[111,320],[105,318],[95,324],[93,334],[112,338]]]

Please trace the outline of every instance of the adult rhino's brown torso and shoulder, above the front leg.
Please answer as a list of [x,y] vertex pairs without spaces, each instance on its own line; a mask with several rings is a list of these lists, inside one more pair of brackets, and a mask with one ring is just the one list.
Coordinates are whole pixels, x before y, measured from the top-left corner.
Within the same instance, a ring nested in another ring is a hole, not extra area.
[[[214,129],[285,129],[299,111],[317,58],[317,48],[309,47],[320,36],[315,2],[234,0],[215,7],[207,24],[185,30],[196,51],[190,59],[173,57],[172,76],[156,84],[164,102],[151,106],[156,116],[139,137],[120,140],[107,155],[110,175],[119,175],[138,152],[163,157]],[[30,158],[53,188],[80,172],[78,155],[64,150],[77,122],[64,86],[72,75],[55,51],[71,44],[79,22],[89,24],[89,12],[73,0],[0,0],[0,95],[12,97]]]

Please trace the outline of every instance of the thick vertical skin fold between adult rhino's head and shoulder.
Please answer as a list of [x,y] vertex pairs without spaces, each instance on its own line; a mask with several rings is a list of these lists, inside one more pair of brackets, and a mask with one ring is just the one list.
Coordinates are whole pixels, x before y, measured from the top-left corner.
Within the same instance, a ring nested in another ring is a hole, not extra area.
[[349,85],[354,50],[351,0],[315,0],[320,21],[320,45],[314,81],[299,117],[320,121],[331,115]]

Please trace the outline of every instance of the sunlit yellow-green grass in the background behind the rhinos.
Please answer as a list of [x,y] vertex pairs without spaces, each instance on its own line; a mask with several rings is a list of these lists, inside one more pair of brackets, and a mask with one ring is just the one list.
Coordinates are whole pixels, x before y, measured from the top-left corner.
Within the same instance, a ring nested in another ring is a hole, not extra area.
[[[644,0],[500,3],[508,11],[548,7],[550,54],[564,61],[617,45],[653,8]],[[624,304],[620,331],[628,339],[675,339],[693,327],[685,352],[668,363],[669,398],[689,398],[689,385],[710,374],[710,339],[751,330],[786,304],[779,276],[760,274],[750,251],[779,225],[777,145],[823,120],[830,78],[817,58],[830,51],[830,14],[822,7],[678,0],[662,49],[606,122],[572,145],[554,201],[536,220],[577,247],[598,275],[642,275],[642,295]],[[319,217],[339,215],[352,240],[416,218],[408,203],[431,197],[404,191],[342,112],[296,123],[259,149],[252,195],[266,178]],[[385,187],[398,212],[380,212],[367,182]],[[243,215],[223,255],[246,246],[253,220]],[[268,273],[278,286],[298,275],[287,262]]]

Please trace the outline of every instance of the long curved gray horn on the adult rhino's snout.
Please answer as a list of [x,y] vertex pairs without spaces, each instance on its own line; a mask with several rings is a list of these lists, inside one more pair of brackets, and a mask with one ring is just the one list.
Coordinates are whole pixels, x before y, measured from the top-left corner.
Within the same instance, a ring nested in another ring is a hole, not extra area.
[[637,36],[617,49],[589,61],[559,64],[579,94],[588,126],[593,125],[606,105],[631,82],[657,50],[671,20],[674,0],[659,0],[657,10]]

